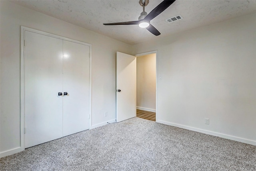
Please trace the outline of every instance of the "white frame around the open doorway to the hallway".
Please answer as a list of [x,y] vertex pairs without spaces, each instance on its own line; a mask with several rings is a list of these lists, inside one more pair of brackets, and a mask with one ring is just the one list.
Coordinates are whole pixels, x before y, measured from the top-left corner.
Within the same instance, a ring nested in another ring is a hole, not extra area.
[[[136,60],[136,68],[137,68],[137,57],[140,57],[140,56],[144,56],[144,55],[150,55],[152,53],[156,53],[156,122],[158,122],[158,51],[155,50],[155,51],[149,51],[149,52],[144,52],[144,53],[138,53],[135,56],[135,60]],[[135,83],[136,83],[136,90],[137,90],[137,69],[135,71],[135,75],[136,75],[136,78],[135,78]],[[135,108],[137,109],[137,91],[135,92],[135,97],[136,97],[136,106]],[[136,114],[135,114],[136,116]]]

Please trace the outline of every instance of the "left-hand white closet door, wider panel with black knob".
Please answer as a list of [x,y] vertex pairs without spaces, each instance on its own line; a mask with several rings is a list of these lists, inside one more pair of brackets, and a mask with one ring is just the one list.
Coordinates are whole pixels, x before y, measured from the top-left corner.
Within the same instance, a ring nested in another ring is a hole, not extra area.
[[62,137],[62,40],[25,32],[25,147]]

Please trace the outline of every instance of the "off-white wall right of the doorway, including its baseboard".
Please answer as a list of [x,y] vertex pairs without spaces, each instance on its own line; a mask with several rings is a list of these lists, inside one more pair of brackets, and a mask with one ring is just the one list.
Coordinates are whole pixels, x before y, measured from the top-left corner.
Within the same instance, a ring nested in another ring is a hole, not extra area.
[[157,122],[256,145],[256,14],[133,49],[158,50]]

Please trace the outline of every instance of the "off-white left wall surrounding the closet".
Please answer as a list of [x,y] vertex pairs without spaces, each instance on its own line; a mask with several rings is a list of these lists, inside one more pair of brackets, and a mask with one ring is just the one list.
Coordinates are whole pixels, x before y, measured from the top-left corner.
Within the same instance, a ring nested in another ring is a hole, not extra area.
[[92,44],[92,127],[116,119],[116,51],[130,45],[8,1],[0,7],[0,156],[20,150],[20,26]]

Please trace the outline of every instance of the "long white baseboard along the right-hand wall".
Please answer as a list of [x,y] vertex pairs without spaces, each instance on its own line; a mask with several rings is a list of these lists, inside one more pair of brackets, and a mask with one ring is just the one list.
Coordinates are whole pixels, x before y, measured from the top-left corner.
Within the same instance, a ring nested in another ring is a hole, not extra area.
[[226,134],[220,134],[220,133],[218,133],[218,132],[212,132],[212,131],[202,130],[202,129],[199,129],[199,128],[194,128],[194,127],[190,127],[190,126],[175,124],[175,123],[166,122],[166,121],[163,121],[163,120],[157,120],[156,122],[159,122],[159,123],[161,123],[161,124],[170,125],[170,126],[176,126],[176,127],[178,127],[178,128],[184,128],[184,129],[186,129],[186,130],[201,132],[201,133],[208,134],[208,135],[212,135],[212,136],[217,136],[217,137],[221,137],[221,138],[226,138],[226,139],[234,140],[234,141],[237,141],[237,142],[242,142],[242,143],[248,143],[248,144],[251,144],[251,145],[256,145],[256,141],[254,141],[254,140],[248,140],[248,139],[245,139],[245,138],[230,136],[230,135],[226,135]]

